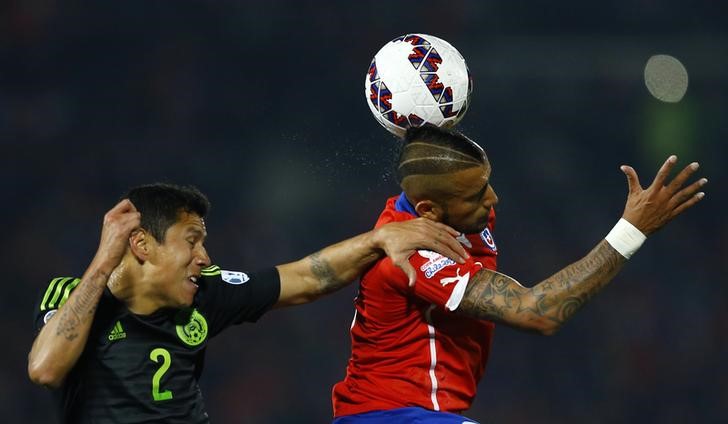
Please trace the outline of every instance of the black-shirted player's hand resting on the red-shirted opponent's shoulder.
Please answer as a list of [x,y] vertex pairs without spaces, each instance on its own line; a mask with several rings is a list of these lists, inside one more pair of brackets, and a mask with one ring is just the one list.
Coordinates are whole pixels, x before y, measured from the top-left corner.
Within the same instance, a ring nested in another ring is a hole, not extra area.
[[376,230],[376,237],[380,240],[378,244],[392,263],[407,275],[410,287],[417,279],[417,273],[409,263],[415,249],[432,250],[456,262],[465,262],[468,254],[455,239],[459,234],[451,227],[427,218],[392,222]]

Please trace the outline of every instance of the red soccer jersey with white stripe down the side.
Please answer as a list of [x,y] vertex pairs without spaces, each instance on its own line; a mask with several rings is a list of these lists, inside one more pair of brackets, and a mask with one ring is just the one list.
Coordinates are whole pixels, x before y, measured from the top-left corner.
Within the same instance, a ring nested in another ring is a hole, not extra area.
[[[414,218],[401,195],[387,201],[376,226]],[[470,407],[495,325],[453,311],[470,277],[482,267],[496,268],[494,224],[491,210],[482,233],[458,237],[471,255],[465,264],[425,250],[412,255],[414,287],[389,258],[362,277],[351,358],[344,381],[333,389],[334,416],[408,406],[459,413]]]

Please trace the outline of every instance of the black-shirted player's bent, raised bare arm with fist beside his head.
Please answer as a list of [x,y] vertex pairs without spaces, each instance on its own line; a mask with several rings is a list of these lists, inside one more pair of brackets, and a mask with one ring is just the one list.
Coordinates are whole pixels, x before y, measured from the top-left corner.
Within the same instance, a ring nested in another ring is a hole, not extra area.
[[48,320],[28,355],[28,375],[36,383],[58,387],[73,368],[86,339],[109,276],[121,262],[129,235],[139,227],[140,215],[127,199],[104,216],[96,256],[68,301]]

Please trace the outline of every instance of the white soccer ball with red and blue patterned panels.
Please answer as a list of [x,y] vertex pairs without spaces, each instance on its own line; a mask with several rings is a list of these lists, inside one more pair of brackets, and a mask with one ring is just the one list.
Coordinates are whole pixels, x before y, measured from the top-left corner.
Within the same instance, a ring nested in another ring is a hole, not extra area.
[[374,117],[400,137],[410,126],[457,124],[472,91],[463,56],[447,41],[426,34],[403,35],[385,44],[364,80]]

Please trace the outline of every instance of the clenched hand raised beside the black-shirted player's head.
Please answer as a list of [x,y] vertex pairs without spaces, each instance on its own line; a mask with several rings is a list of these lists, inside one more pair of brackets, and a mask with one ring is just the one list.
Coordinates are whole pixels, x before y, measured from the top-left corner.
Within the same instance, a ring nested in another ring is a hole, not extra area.
[[129,199],[124,199],[104,215],[101,241],[94,260],[100,261],[109,272],[116,268],[124,256],[129,235],[139,228],[141,214]]

